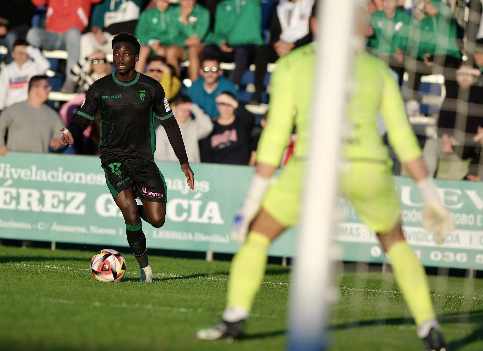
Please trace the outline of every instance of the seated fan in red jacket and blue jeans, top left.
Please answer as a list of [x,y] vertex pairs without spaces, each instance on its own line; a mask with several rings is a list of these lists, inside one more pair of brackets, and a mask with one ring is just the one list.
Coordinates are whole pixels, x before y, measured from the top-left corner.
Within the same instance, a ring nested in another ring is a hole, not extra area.
[[[66,50],[67,72],[79,60],[81,32],[89,23],[91,6],[101,0],[32,0],[35,6],[47,5],[45,28],[31,28],[27,33],[30,45],[45,50]],[[61,88],[73,93],[76,83],[67,75]]]

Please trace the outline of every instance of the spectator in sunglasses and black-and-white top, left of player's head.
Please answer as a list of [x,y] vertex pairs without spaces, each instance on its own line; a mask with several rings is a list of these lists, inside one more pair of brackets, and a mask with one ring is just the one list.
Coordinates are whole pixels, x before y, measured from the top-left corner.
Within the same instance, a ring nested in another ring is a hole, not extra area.
[[96,51],[79,60],[71,69],[71,76],[79,85],[81,92],[86,92],[94,81],[113,73],[113,67],[107,62],[106,54]]

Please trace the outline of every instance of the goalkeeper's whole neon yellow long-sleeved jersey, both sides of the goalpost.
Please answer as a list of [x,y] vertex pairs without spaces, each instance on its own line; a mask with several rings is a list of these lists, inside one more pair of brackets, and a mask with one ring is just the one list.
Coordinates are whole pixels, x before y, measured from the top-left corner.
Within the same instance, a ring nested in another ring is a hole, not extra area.
[[[305,158],[312,116],[314,63],[313,44],[293,50],[277,61],[270,79],[270,109],[258,143],[257,162],[278,167],[294,126],[297,141],[292,157]],[[384,118],[389,142],[399,160],[412,161],[421,156],[398,84],[389,67],[367,53],[357,54],[354,65],[356,85],[347,109],[349,132],[344,138],[343,157],[355,161],[389,161],[388,150],[378,133],[379,113]]]

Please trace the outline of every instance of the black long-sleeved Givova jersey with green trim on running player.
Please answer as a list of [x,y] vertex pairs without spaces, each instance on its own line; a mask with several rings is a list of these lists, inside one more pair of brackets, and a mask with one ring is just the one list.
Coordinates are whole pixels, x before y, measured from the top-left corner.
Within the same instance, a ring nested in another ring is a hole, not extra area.
[[133,81],[119,81],[115,74],[95,81],[69,130],[80,136],[99,109],[100,159],[147,164],[153,161],[157,121],[166,130],[181,164],[188,163],[181,131],[158,81],[136,72]]

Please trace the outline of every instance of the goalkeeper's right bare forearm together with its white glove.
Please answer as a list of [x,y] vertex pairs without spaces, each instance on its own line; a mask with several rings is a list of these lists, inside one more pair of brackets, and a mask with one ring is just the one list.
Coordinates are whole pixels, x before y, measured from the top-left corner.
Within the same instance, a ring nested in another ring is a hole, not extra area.
[[444,207],[438,195],[438,189],[431,177],[428,177],[422,157],[404,162],[404,168],[411,175],[425,202],[423,207],[423,227],[436,235],[436,243],[442,244],[446,234],[455,230],[449,211]]

